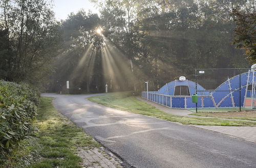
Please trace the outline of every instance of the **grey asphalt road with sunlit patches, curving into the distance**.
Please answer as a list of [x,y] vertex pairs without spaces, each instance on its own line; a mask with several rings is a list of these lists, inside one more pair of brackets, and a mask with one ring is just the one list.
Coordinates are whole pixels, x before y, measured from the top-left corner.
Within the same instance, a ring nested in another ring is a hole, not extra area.
[[127,167],[256,167],[256,144],[225,134],[56,95],[54,106]]

